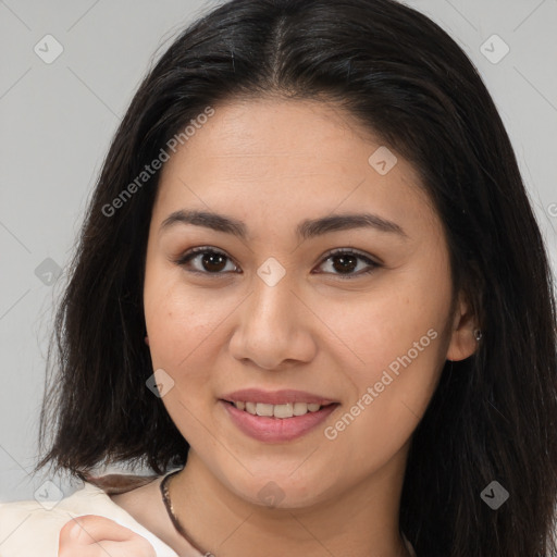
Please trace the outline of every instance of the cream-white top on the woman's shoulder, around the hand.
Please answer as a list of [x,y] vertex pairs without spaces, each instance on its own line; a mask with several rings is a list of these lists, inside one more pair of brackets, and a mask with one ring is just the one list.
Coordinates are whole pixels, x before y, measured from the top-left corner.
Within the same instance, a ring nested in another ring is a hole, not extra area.
[[60,530],[67,521],[83,515],[114,520],[147,539],[158,557],[176,557],[161,540],[113,503],[103,490],[88,482],[60,502],[0,504],[0,557],[57,557]]

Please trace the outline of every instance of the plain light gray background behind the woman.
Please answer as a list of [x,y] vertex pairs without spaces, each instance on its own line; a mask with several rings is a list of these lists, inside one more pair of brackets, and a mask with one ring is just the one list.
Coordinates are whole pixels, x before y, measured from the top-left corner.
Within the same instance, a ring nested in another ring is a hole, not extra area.
[[[111,136],[151,62],[215,3],[0,0],[2,502],[32,498],[49,480],[28,474],[47,341]],[[555,271],[557,0],[407,3],[446,29],[483,76],[511,136]],[[48,34],[63,47],[50,64],[34,51],[38,45],[42,57],[55,52],[52,39],[45,46]],[[503,44],[487,40],[494,34],[510,49],[497,63],[486,58],[504,53]],[[64,494],[75,488],[66,480],[55,483]]]

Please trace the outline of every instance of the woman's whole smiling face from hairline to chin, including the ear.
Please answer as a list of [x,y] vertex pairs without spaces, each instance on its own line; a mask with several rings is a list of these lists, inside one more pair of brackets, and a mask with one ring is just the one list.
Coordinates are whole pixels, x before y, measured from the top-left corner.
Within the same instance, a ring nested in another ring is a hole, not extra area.
[[473,349],[418,173],[315,101],[218,106],[171,157],[144,301],[173,422],[255,503],[323,502],[403,458],[446,358]]

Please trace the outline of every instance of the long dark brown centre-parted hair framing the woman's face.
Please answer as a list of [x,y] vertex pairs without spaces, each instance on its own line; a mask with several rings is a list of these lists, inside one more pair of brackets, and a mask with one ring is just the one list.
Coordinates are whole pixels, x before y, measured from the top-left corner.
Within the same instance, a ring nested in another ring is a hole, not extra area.
[[[484,334],[476,354],[446,363],[412,435],[401,531],[428,557],[549,555],[557,355],[547,255],[473,64],[393,0],[232,0],[153,64],[112,140],[70,265],[36,470],[81,475],[125,461],[160,474],[185,463],[187,442],[146,387],[143,284],[160,172],[137,177],[207,107],[265,96],[333,101],[414,165],[444,225],[454,292],[467,294]],[[497,509],[482,496],[492,482],[509,495]]]

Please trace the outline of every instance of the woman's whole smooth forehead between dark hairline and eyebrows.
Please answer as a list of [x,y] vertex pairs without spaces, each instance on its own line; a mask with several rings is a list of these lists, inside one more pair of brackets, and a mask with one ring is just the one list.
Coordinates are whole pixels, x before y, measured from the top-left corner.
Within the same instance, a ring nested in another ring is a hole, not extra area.
[[[376,152],[392,157],[387,173],[371,163]],[[385,219],[432,212],[412,165],[350,114],[330,103],[284,99],[214,107],[161,173],[153,214],[161,221],[159,213],[183,207],[244,220],[257,218],[256,207],[265,219],[282,220],[337,209],[366,208]]]

